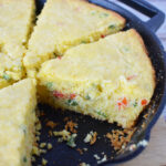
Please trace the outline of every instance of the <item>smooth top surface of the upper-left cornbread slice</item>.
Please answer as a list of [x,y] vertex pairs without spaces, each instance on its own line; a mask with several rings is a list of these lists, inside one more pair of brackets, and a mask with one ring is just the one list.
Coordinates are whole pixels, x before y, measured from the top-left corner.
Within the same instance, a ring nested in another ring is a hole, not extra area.
[[31,25],[34,0],[0,0],[0,45],[10,56],[22,56]]

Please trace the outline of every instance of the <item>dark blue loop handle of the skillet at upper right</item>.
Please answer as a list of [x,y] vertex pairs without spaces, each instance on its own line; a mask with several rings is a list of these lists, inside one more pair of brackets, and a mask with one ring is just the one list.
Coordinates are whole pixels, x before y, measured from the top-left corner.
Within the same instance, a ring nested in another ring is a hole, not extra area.
[[137,11],[148,15],[151,19],[145,24],[153,31],[157,31],[165,20],[165,14],[145,0],[118,0]]

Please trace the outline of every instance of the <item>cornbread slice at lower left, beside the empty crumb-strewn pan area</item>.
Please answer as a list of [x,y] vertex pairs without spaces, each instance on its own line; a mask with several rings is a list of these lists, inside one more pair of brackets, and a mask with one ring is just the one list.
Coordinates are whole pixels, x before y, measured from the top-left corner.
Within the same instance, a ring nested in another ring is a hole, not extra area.
[[31,166],[35,104],[31,79],[0,90],[0,166]]

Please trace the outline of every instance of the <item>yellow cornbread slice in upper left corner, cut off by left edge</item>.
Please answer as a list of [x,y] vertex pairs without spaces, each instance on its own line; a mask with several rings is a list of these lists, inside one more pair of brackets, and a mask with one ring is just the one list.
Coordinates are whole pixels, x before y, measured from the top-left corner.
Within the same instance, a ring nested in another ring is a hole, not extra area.
[[0,0],[0,87],[20,80],[34,17],[34,0]]

